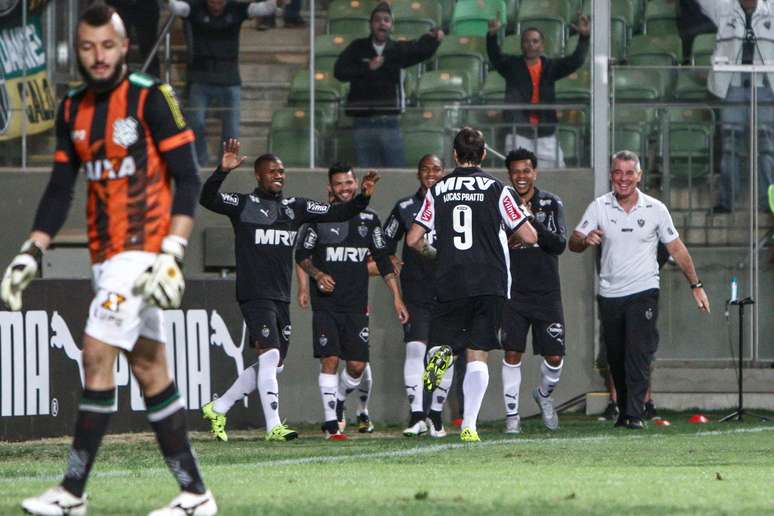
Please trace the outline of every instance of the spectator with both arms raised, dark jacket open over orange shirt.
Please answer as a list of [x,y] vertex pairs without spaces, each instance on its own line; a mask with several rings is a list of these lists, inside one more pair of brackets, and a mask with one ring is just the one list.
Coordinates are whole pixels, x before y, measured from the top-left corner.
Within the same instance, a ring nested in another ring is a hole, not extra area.
[[[578,46],[567,56],[552,59],[543,55],[544,35],[534,27],[521,34],[522,55],[506,55],[500,51],[497,34],[502,23],[499,18],[489,20],[486,51],[489,62],[497,73],[505,78],[506,104],[551,104],[556,101],[556,81],[567,77],[583,66],[589,51],[591,25],[581,16],[578,26]],[[515,134],[509,134],[505,150],[524,148],[534,152],[542,168],[564,168],[564,155],[556,139],[557,117],[555,110],[525,111],[506,110],[506,122],[516,126]]]

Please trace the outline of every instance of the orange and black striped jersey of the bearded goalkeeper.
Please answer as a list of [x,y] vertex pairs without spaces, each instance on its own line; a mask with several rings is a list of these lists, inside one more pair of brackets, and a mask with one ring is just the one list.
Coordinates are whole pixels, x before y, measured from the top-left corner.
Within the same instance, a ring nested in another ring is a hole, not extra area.
[[59,106],[56,130],[53,175],[82,169],[88,181],[92,262],[122,251],[158,252],[174,212],[170,153],[187,146],[184,160],[193,155],[194,133],[172,87],[131,73],[107,93],[71,91]]

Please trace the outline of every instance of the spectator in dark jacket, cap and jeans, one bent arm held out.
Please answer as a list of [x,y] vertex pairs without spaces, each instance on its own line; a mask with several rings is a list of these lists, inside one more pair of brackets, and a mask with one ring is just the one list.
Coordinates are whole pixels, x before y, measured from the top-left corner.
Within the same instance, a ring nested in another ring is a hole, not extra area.
[[429,59],[444,33],[434,28],[413,41],[394,41],[390,4],[371,12],[371,35],[352,41],[336,60],[334,76],[350,83],[347,115],[353,117],[359,167],[405,165],[398,115],[405,105],[401,70]]

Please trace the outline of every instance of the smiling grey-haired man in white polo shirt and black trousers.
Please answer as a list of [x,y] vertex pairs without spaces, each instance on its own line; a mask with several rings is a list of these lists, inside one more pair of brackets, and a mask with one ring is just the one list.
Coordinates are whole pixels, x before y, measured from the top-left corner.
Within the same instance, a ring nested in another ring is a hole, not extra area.
[[602,248],[598,301],[608,363],[618,392],[620,416],[616,426],[631,429],[644,427],[645,391],[658,347],[659,241],[688,279],[699,310],[710,309],[669,211],[661,201],[637,188],[641,179],[637,154],[614,154],[610,169],[613,191],[589,204],[569,245],[576,253],[590,246]]

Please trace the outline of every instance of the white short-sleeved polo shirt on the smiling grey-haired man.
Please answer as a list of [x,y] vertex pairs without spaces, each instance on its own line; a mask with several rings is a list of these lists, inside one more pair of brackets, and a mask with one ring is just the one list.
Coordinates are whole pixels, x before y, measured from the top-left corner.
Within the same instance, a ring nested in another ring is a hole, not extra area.
[[594,199],[575,228],[583,236],[604,232],[599,295],[623,297],[659,287],[656,246],[678,238],[666,206],[637,190],[637,205],[626,213],[613,192]]

